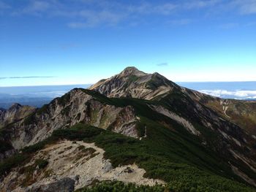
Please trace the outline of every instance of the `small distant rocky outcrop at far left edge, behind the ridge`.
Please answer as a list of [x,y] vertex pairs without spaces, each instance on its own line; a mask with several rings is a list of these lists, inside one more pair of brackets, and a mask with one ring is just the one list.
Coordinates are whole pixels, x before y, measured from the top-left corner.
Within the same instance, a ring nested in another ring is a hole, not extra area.
[[20,104],[12,104],[8,110],[0,109],[0,128],[25,118],[34,110],[34,107],[22,106]]

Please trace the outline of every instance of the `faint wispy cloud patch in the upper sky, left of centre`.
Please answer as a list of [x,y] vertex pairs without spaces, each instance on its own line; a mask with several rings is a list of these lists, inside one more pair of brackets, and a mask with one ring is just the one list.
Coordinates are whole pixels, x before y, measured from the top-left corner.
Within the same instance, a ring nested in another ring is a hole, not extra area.
[[142,15],[170,15],[176,4],[149,4],[142,3],[137,5],[113,4],[113,6],[102,6],[99,4],[99,10],[82,9],[74,12],[79,22],[70,22],[71,28],[87,28],[95,26],[116,26],[119,23],[129,20],[130,23],[138,23],[138,18]]

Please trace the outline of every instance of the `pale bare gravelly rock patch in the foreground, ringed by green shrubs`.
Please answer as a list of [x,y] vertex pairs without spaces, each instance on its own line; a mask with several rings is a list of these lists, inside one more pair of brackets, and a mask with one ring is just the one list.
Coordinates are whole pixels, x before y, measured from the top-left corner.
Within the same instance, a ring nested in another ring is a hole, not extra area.
[[[162,180],[143,177],[144,169],[137,165],[113,168],[105,151],[94,143],[63,141],[40,150],[31,161],[13,170],[0,183],[3,191],[73,191],[91,185],[95,180],[120,180],[138,185],[163,184]],[[48,166],[35,168],[32,173],[21,172],[33,166],[36,159],[44,158]],[[30,185],[30,183],[34,183]],[[20,187],[23,184],[24,187]]]

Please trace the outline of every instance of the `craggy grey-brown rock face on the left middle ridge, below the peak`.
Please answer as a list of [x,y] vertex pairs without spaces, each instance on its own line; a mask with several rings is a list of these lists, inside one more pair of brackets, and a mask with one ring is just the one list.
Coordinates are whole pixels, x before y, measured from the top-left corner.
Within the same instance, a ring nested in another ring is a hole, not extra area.
[[132,107],[104,104],[85,91],[74,89],[14,123],[8,129],[8,137],[12,146],[20,149],[46,139],[56,129],[82,122],[137,138],[137,121]]

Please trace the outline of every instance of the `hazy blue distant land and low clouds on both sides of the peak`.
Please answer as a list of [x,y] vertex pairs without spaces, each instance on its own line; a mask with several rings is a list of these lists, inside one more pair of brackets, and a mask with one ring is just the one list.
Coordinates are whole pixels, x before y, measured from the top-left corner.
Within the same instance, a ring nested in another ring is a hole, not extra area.
[[[250,99],[256,100],[255,82],[176,82],[211,96],[223,99]],[[13,103],[42,107],[52,99],[63,96],[72,88],[88,88],[84,85],[40,85],[0,87],[0,107],[9,108]]]

